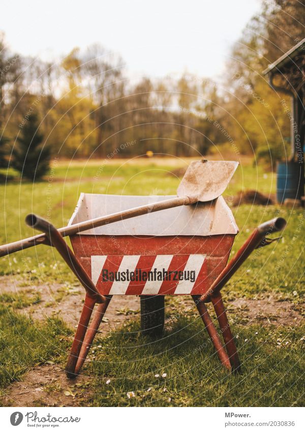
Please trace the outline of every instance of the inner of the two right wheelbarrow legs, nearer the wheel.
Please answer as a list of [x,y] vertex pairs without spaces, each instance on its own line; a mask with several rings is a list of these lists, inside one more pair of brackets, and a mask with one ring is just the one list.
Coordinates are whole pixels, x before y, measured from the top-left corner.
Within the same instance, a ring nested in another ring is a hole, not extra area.
[[201,302],[200,296],[192,296],[193,300],[197,306],[198,312],[202,318],[202,321],[205,325],[205,328],[209,334],[209,337],[217,351],[218,357],[222,364],[229,370],[231,370],[231,364],[228,357],[228,354],[226,353],[226,350],[223,347],[223,344],[220,340],[219,334],[217,333],[217,330],[215,328],[214,323],[211,320],[211,317],[208,313],[208,310],[204,304],[204,302]]

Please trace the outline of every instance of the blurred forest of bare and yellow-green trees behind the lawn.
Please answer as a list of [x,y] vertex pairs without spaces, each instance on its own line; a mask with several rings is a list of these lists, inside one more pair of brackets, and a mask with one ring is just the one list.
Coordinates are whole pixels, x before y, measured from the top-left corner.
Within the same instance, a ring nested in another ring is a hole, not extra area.
[[46,157],[198,156],[228,146],[267,163],[282,159],[289,118],[261,73],[304,37],[304,3],[263,1],[221,82],[204,71],[132,80],[124,60],[99,44],[47,63],[11,52],[2,35],[0,165],[34,120]]

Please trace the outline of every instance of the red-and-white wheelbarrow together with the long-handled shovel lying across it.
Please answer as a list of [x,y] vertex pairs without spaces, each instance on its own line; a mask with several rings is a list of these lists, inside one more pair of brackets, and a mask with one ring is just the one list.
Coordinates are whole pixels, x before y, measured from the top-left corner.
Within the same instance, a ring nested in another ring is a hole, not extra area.
[[[225,166],[219,175],[223,181],[212,181],[211,171],[202,176],[210,166]],[[221,289],[255,248],[272,241],[266,236],[281,231],[286,221],[275,218],[259,225],[227,264],[238,228],[221,193],[236,166],[191,164],[177,197],[82,193],[67,227],[57,230],[31,214],[26,223],[43,234],[0,248],[4,255],[40,243],[53,246],[84,286],[84,305],[66,366],[68,378],[79,374],[114,295],[140,296],[141,329],[159,336],[164,296],[192,296],[220,361],[227,369],[240,371]],[[67,235],[74,253],[63,239]],[[208,302],[215,309],[224,344]]]

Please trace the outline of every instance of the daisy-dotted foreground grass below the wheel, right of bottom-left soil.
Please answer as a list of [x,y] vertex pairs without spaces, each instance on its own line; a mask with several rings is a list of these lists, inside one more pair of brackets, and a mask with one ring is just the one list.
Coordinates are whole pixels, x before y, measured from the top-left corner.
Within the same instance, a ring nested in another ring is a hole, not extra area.
[[[97,339],[95,353],[90,355],[94,361],[83,370],[96,377],[87,404],[301,406],[305,372],[300,339],[304,329],[233,325],[233,331],[239,336],[242,375],[229,375],[222,368],[199,316],[179,318],[161,340],[143,337],[138,323]],[[133,392],[130,398],[129,392]]]

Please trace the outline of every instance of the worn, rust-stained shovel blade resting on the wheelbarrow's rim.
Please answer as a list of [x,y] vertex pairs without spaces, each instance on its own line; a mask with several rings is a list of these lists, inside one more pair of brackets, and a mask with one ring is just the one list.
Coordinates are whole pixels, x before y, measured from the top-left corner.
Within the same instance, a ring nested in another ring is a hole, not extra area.
[[177,196],[189,196],[192,201],[211,201],[227,188],[238,166],[236,161],[194,161],[189,165],[177,189]]

